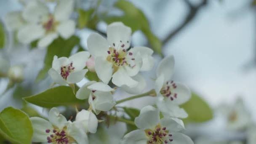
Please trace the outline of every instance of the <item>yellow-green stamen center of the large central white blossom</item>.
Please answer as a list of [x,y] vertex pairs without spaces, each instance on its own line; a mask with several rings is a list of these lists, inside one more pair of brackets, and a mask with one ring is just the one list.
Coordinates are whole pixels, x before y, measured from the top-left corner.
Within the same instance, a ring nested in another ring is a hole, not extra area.
[[[128,41],[127,41],[128,43]],[[120,40],[119,45],[115,45],[115,43],[112,44],[113,47],[109,48],[109,51],[107,53],[109,54],[107,56],[107,61],[112,62],[113,66],[112,68],[114,69],[114,73],[118,70],[120,66],[129,66],[129,67],[134,67],[135,64],[130,64],[129,61],[132,60],[134,61],[135,59],[131,56],[133,56],[133,53],[128,52],[124,49],[124,44]],[[121,47],[121,48],[120,48]]]

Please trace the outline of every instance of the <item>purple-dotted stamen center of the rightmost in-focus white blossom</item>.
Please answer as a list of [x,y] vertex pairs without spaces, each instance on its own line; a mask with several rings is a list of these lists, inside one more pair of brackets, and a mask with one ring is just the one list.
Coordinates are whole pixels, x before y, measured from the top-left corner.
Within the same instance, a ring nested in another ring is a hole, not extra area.
[[171,92],[175,88],[177,88],[176,84],[173,81],[168,81],[163,86],[163,88],[161,89],[160,93],[163,96],[166,96],[167,98],[170,97],[171,101],[173,101],[173,99],[177,98],[177,93],[172,93]]

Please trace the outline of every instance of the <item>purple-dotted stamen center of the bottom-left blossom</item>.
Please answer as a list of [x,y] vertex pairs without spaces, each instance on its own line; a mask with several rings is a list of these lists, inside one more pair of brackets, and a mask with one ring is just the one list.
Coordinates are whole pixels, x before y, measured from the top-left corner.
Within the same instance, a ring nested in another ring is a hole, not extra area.
[[47,142],[52,144],[69,144],[72,142],[75,142],[75,140],[72,137],[69,137],[67,135],[67,127],[64,127],[62,130],[59,130],[58,128],[51,130],[47,129],[45,130],[46,133],[51,133],[50,136],[47,137]]

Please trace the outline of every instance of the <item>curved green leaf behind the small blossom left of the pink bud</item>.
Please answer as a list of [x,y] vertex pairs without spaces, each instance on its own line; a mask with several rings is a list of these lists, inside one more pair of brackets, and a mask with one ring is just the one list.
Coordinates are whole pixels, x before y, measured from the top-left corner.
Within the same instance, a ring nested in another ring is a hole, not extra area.
[[47,53],[44,61],[45,66],[37,75],[37,81],[40,81],[43,78],[45,78],[48,70],[51,68],[53,56],[56,55],[58,57],[69,57],[72,49],[75,47],[75,45],[78,45],[79,43],[80,39],[76,36],[72,36],[67,40],[64,40],[61,37],[54,40],[53,43],[51,43],[51,45],[49,45],[47,48]]

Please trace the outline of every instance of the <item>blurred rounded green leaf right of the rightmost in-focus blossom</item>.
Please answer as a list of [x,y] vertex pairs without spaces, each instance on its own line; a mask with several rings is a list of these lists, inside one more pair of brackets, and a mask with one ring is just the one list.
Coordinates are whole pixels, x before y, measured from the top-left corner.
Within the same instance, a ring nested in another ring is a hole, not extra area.
[[184,122],[202,123],[213,118],[213,111],[200,96],[192,93],[191,99],[181,105],[188,113],[189,117]]

